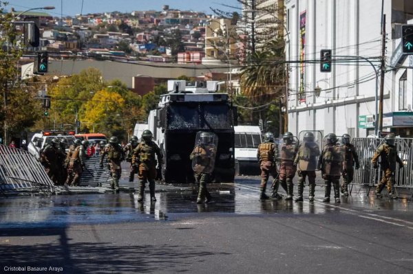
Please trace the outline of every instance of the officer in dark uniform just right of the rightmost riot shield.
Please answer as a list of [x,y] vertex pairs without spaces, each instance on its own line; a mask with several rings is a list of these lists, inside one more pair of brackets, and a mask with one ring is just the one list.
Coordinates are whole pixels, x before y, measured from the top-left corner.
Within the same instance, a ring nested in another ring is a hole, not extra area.
[[350,135],[344,134],[341,136],[344,149],[344,163],[343,163],[343,184],[341,185],[341,193],[348,196],[348,185],[352,182],[354,176],[353,165],[356,164],[356,170],[360,168],[359,156],[356,148],[350,143]]

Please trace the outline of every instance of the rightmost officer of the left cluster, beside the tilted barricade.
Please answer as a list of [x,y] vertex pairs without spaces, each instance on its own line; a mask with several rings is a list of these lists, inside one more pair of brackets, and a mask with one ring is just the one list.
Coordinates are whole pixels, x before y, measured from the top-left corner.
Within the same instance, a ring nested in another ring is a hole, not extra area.
[[81,181],[83,173],[83,166],[85,165],[85,149],[83,148],[82,141],[76,139],[74,141],[74,150],[69,150],[67,153],[66,161],[67,165],[67,179],[65,185],[77,186]]

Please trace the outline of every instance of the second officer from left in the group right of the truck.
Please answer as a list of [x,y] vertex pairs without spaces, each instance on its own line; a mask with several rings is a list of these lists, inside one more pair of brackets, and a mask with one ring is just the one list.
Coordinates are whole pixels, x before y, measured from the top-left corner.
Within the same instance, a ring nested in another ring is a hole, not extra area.
[[294,144],[294,135],[293,133],[286,132],[282,137],[283,142],[280,144],[279,148],[279,180],[275,181],[273,187],[273,198],[281,198],[277,193],[279,184],[281,183],[284,190],[287,192],[287,198],[293,198],[293,178],[295,172],[297,171],[297,165],[294,164],[295,157],[297,156],[298,147],[297,144]]

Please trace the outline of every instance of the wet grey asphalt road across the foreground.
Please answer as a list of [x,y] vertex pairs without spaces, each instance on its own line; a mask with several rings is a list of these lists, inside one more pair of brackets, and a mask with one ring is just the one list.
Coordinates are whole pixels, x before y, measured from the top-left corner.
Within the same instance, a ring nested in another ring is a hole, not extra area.
[[211,185],[208,205],[196,205],[191,185],[157,185],[158,201],[150,203],[147,193],[142,204],[128,192],[1,198],[0,273],[17,273],[8,266],[56,266],[59,273],[413,272],[407,192],[392,201],[354,187],[342,203],[326,204],[318,184],[314,203],[260,202],[259,184],[258,177],[237,177],[233,185]]

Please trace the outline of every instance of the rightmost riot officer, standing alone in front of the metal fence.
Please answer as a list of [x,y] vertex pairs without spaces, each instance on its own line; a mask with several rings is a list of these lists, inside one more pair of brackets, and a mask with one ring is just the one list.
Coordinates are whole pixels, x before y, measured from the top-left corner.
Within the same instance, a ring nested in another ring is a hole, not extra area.
[[403,162],[397,153],[394,133],[386,135],[384,141],[385,144],[381,144],[377,148],[372,158],[373,168],[379,168],[377,160],[381,157],[380,165],[381,170],[383,170],[383,177],[381,177],[381,181],[376,187],[376,196],[381,197],[381,190],[387,186],[389,196],[391,198],[398,198],[393,188],[394,172],[396,172],[396,162],[399,163],[399,168],[403,168]]

